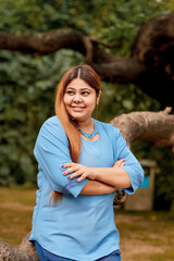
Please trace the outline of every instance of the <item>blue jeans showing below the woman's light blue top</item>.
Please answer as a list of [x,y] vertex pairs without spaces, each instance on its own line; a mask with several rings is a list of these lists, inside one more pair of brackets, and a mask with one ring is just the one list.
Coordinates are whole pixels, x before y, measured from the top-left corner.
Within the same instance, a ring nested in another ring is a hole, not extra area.
[[[75,261],[74,259],[62,258],[47,251],[37,241],[35,241],[35,248],[40,261]],[[112,253],[99,258],[95,261],[121,261],[121,252],[119,250],[115,250]]]

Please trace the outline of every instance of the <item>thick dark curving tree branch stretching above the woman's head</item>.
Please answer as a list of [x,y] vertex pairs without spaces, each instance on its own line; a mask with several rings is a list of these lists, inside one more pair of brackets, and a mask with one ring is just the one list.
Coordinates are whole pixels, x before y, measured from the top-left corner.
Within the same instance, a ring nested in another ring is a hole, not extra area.
[[144,25],[128,59],[108,53],[101,45],[110,47],[73,29],[21,36],[0,32],[0,49],[35,57],[69,48],[83,53],[85,62],[96,69],[101,79],[137,84],[162,104],[174,105],[174,14],[156,17]]

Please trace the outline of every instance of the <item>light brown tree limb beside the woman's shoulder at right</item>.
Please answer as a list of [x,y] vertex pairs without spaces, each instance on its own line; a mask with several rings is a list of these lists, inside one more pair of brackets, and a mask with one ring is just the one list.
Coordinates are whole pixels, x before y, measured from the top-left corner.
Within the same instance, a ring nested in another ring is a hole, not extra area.
[[136,140],[163,145],[174,153],[174,115],[172,108],[160,112],[132,112],[114,117],[111,124],[121,129],[130,146]]

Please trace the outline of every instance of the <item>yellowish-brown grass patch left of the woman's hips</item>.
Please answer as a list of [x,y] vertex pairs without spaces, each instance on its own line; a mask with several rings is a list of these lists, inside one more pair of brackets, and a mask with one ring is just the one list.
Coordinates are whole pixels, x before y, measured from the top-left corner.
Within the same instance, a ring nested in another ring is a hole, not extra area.
[[0,187],[0,239],[17,246],[30,231],[36,189]]

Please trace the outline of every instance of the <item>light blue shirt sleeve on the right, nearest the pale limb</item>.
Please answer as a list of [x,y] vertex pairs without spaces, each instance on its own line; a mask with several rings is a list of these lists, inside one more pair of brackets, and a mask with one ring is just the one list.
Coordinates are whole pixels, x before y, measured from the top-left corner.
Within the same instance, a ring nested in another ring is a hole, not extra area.
[[145,172],[139,164],[138,160],[135,158],[135,156],[129,150],[128,145],[126,144],[126,140],[123,138],[121,132],[119,128],[115,128],[115,161],[117,161],[121,158],[124,158],[126,161],[126,164],[122,166],[124,169],[132,183],[130,188],[124,189],[127,194],[134,194],[136,189],[140,186],[140,184],[144,181]]

